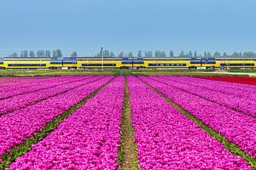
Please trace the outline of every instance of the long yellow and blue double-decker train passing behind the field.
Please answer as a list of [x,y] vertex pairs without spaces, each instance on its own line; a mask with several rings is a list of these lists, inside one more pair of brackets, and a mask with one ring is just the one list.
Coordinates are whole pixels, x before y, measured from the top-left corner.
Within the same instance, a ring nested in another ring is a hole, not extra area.
[[255,68],[256,58],[2,58],[0,69]]

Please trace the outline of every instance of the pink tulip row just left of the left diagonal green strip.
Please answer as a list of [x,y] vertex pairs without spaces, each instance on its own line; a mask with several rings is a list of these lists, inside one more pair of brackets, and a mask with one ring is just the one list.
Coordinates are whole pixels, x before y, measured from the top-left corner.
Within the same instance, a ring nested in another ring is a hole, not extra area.
[[53,122],[82,100],[88,98],[98,88],[111,80],[112,77],[104,77],[97,82],[85,84],[74,88],[65,94],[44,100],[38,105],[32,105],[0,117],[0,157],[4,152],[22,144],[26,139],[42,131],[45,125]]

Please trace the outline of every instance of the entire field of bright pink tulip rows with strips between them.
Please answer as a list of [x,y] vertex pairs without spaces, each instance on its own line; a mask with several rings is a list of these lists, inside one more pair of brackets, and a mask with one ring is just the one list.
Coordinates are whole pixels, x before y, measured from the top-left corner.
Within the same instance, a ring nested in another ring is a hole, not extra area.
[[230,80],[0,78],[0,169],[255,169],[256,85]]

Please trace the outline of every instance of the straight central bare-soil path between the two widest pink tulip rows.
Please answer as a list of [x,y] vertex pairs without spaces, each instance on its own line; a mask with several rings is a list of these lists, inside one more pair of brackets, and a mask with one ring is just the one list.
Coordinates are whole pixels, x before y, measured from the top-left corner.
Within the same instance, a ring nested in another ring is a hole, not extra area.
[[138,163],[137,144],[134,143],[135,130],[132,124],[130,93],[127,77],[125,77],[125,100],[121,124],[121,146],[119,148],[118,162],[120,169],[140,169]]

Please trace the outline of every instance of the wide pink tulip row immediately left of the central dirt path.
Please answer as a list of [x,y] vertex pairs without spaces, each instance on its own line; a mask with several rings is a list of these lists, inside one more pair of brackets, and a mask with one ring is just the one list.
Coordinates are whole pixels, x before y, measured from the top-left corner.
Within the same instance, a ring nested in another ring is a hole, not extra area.
[[124,92],[118,77],[10,169],[118,169]]

